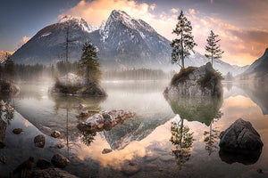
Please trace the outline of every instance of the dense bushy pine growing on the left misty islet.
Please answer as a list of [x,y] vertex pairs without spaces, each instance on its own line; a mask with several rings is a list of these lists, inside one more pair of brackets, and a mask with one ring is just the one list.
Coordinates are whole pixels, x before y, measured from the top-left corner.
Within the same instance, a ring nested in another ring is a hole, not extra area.
[[79,61],[79,74],[87,78],[87,82],[94,82],[101,79],[100,63],[96,54],[96,47],[90,42],[83,45],[83,53]]

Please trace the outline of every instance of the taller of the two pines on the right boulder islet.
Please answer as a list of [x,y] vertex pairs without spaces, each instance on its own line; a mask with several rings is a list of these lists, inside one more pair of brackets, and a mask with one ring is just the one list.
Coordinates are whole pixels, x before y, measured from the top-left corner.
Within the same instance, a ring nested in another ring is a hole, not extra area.
[[178,23],[172,33],[178,36],[178,38],[172,40],[171,44],[173,48],[172,64],[176,63],[180,68],[184,69],[184,59],[190,55],[189,51],[194,52],[193,48],[197,44],[194,42],[194,36],[192,36],[191,22],[184,16],[182,11],[180,11]]

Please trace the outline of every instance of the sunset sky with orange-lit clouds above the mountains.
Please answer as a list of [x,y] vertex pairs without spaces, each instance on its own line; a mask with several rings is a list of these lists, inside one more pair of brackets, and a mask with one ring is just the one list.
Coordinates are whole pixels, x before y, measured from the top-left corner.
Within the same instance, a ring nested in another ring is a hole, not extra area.
[[222,61],[249,65],[268,47],[268,0],[1,0],[0,52],[14,52],[30,37],[63,15],[79,16],[98,26],[122,10],[147,21],[172,40],[182,10],[193,27],[197,52],[205,54],[206,37],[214,30],[225,52]]

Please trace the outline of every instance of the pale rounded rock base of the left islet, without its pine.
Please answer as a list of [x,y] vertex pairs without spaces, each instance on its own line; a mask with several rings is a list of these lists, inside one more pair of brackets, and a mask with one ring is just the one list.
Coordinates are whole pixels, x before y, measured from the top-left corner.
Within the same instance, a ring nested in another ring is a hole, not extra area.
[[105,90],[96,81],[87,82],[86,78],[68,73],[60,77],[49,89],[53,94],[71,94],[87,96],[106,96]]

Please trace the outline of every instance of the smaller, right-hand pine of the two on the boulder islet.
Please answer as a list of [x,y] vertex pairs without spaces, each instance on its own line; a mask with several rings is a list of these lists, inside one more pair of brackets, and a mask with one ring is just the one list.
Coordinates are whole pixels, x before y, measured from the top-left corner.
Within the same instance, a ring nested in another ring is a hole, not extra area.
[[210,31],[210,36],[207,36],[206,42],[207,45],[205,45],[205,51],[207,52],[205,54],[205,57],[211,59],[211,64],[214,66],[214,59],[221,59],[222,58],[222,53],[224,53],[221,50],[221,45],[219,45],[219,41],[221,39],[217,39],[218,35],[214,34],[214,31]]

